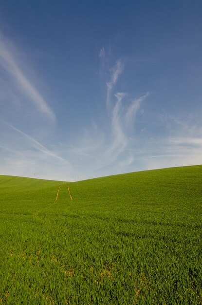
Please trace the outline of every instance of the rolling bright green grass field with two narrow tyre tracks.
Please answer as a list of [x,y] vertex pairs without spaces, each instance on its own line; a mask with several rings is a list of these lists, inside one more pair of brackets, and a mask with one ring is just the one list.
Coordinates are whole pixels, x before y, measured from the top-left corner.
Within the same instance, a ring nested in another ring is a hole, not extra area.
[[0,304],[202,304],[202,166],[0,176]]

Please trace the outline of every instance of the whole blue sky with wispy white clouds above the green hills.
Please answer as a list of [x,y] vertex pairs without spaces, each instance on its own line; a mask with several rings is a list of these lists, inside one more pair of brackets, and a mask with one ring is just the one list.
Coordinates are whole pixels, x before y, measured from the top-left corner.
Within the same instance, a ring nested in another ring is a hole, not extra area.
[[201,1],[0,1],[0,174],[202,164]]

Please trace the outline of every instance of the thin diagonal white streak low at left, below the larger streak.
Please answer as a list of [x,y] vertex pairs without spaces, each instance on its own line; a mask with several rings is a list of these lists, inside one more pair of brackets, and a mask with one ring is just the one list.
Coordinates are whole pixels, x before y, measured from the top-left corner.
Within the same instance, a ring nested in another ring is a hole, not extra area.
[[51,152],[50,150],[48,150],[46,147],[44,147],[43,145],[41,145],[37,140],[35,140],[33,137],[31,137],[29,134],[22,132],[21,130],[19,130],[18,128],[14,127],[13,125],[4,122],[6,125],[8,125],[10,128],[14,129],[15,131],[17,131],[18,133],[22,134],[23,137],[25,137],[29,144],[31,144],[32,147],[34,147],[35,149],[37,149],[40,152],[43,152],[49,156],[52,156],[60,161],[66,162],[66,160],[64,160],[63,158],[61,158],[60,156],[55,155],[54,152]]

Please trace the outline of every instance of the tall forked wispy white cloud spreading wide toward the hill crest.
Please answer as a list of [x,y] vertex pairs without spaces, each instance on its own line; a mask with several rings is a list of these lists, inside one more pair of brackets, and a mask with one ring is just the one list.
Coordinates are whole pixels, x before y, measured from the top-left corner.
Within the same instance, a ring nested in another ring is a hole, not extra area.
[[[100,50],[99,56],[102,60],[105,58],[104,48]],[[102,172],[104,175],[107,171],[113,173],[122,172],[135,161],[134,150],[131,146],[131,133],[134,132],[136,116],[141,109],[148,93],[139,98],[131,99],[130,95],[125,92],[118,92],[116,84],[119,76],[123,72],[124,65],[118,60],[109,70],[109,81],[106,82],[106,121],[105,128],[97,126],[93,128],[94,132],[85,131],[80,139],[79,145],[74,144],[72,147],[66,147],[66,154],[71,155],[70,159],[78,156],[79,160],[85,159],[86,162],[80,164],[80,168],[88,165],[91,171]],[[106,74],[107,75],[107,74]],[[133,137],[135,135],[133,134]],[[74,156],[72,156],[74,153]]]

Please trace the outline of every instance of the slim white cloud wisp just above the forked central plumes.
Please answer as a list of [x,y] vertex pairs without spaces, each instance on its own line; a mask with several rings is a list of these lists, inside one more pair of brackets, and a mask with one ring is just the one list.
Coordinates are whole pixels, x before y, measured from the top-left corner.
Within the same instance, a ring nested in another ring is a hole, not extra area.
[[111,77],[110,77],[110,81],[107,82],[107,108],[109,109],[110,107],[110,97],[111,97],[111,92],[113,90],[113,87],[115,86],[117,79],[119,77],[119,75],[122,73],[123,71],[123,64],[121,63],[120,60],[117,61],[116,65],[110,70],[111,71]]

